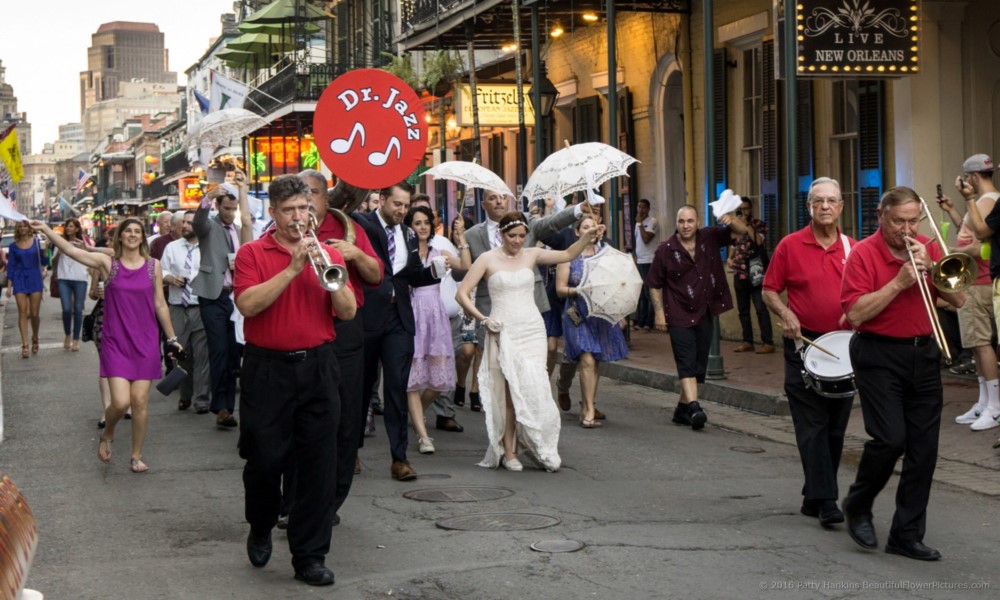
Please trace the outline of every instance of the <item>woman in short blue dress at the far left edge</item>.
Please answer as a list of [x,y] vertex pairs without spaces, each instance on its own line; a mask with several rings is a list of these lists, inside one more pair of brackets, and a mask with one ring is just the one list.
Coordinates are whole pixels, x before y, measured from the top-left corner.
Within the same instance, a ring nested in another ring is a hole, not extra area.
[[27,221],[14,226],[14,243],[7,253],[7,297],[13,294],[17,302],[21,358],[28,358],[28,321],[31,321],[31,354],[38,354],[38,312],[42,305],[42,278],[49,259]]

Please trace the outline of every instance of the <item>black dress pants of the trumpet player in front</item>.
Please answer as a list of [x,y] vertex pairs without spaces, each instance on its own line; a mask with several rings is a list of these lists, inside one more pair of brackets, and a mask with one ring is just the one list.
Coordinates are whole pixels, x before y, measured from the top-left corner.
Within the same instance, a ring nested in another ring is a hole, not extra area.
[[337,469],[340,372],[333,344],[301,360],[247,346],[240,394],[240,457],[246,519],[255,535],[278,520],[281,475],[296,477],[288,519],[292,565],[322,562],[330,550]]

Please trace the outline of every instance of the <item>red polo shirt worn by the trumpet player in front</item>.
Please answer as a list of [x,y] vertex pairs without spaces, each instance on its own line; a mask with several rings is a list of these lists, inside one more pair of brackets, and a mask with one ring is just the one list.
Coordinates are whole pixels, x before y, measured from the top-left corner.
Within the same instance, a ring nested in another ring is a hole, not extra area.
[[[334,248],[321,246],[338,265],[344,259]],[[236,299],[248,288],[264,283],[292,262],[292,253],[267,231],[236,253],[233,290]],[[305,350],[336,338],[333,331],[333,301],[307,263],[281,295],[264,312],[243,321],[247,343],[271,350]]]

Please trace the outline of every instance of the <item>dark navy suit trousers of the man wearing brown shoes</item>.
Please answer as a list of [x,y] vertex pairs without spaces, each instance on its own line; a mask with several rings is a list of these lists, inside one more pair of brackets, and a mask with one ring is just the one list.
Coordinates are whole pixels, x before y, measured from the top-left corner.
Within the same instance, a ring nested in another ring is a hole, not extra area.
[[[393,461],[405,461],[407,422],[410,418],[410,410],[406,404],[406,386],[410,380],[410,364],[413,362],[413,334],[403,328],[395,305],[382,318],[384,324],[380,329],[365,331],[365,378],[361,389],[371,390],[375,386],[378,379],[377,365],[381,364],[382,418],[389,436],[389,448]],[[364,395],[367,397],[363,398],[361,413],[358,415],[359,448],[364,445],[364,421],[371,405],[371,396]]]

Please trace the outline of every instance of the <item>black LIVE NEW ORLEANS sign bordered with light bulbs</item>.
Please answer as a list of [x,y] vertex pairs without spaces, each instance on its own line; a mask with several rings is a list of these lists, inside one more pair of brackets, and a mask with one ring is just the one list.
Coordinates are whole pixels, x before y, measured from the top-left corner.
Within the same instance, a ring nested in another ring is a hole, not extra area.
[[919,0],[794,1],[799,75],[918,71]]

